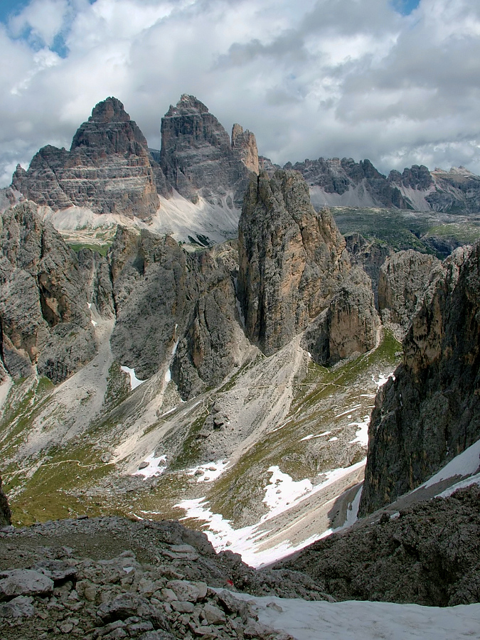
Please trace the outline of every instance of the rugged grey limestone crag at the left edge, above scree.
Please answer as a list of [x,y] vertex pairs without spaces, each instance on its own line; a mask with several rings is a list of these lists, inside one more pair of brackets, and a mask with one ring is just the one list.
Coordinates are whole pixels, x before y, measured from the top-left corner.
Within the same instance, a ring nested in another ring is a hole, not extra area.
[[65,380],[95,355],[78,260],[33,203],[6,210],[0,238],[1,357],[14,378]]

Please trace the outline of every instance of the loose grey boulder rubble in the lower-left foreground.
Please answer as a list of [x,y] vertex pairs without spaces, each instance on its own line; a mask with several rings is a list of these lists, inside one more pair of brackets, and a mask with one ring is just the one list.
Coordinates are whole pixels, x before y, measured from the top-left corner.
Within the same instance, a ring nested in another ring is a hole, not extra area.
[[5,640],[288,640],[233,592],[329,599],[308,576],[252,570],[175,522],[57,521],[6,527],[0,538]]

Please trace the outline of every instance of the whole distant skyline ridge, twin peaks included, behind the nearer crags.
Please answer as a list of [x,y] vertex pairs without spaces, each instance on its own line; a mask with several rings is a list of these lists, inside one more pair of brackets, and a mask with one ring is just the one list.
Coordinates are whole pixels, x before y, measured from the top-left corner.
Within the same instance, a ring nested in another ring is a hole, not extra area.
[[[33,156],[28,170],[18,165],[10,191],[54,211],[80,207],[146,223],[158,214],[159,230],[171,228],[174,233],[171,209],[178,203],[171,198],[178,193],[203,211],[197,236],[201,238],[203,230],[209,244],[218,241],[212,235],[215,230],[223,232],[222,238],[235,231],[249,177],[259,171],[272,177],[280,168],[258,155],[252,132],[234,124],[230,137],[192,95],[182,95],[161,119],[158,150],[149,149],[122,102],[108,97],[79,127],[70,151],[47,145]],[[316,208],[380,207],[464,215],[480,211],[480,177],[464,167],[430,171],[413,165],[385,176],[368,159],[320,157],[287,162],[284,169],[302,174]],[[188,236],[188,229],[183,236]]]

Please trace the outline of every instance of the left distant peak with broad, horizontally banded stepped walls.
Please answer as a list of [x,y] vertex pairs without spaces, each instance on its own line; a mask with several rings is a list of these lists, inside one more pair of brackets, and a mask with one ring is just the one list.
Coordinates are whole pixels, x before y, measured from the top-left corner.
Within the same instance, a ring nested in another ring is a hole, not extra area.
[[155,165],[137,124],[109,97],[78,129],[70,151],[44,146],[28,171],[17,166],[12,186],[53,210],[78,206],[148,219],[159,207]]

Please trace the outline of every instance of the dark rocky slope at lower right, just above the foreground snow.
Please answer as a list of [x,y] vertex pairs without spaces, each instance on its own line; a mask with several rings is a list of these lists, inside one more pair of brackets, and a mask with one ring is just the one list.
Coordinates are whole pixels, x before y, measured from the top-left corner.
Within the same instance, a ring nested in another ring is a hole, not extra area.
[[480,599],[480,489],[460,489],[336,533],[273,565],[309,575],[338,600],[453,607]]

